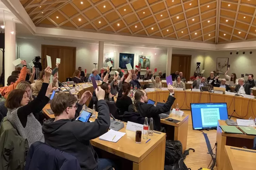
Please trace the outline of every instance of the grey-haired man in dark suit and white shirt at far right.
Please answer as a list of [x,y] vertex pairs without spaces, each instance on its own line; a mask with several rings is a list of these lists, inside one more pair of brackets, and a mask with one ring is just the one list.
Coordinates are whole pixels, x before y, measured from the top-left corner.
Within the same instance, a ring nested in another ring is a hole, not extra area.
[[254,80],[252,79],[252,76],[248,76],[250,79],[248,83],[244,83],[244,79],[240,78],[238,79],[238,84],[236,85],[235,92],[239,94],[248,94],[250,95],[250,88],[255,86]]

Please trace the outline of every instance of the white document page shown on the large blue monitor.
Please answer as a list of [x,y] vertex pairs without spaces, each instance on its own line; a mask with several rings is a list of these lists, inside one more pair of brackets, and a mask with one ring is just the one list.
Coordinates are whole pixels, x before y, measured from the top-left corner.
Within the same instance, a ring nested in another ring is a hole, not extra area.
[[202,125],[217,125],[220,119],[219,108],[201,108]]

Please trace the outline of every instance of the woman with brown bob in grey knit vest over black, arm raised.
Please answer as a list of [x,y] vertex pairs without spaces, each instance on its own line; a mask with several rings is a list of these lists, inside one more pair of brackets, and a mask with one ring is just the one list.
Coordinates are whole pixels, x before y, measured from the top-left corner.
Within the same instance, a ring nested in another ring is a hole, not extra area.
[[29,102],[27,92],[21,89],[14,89],[8,95],[5,106],[8,109],[7,119],[12,123],[21,137],[28,140],[29,146],[36,142],[45,142],[42,134],[40,123],[36,120],[33,113],[41,111],[49,102],[48,95],[52,90],[52,85],[49,85],[49,79],[52,70],[47,67],[45,69],[45,79],[42,83],[37,98]]

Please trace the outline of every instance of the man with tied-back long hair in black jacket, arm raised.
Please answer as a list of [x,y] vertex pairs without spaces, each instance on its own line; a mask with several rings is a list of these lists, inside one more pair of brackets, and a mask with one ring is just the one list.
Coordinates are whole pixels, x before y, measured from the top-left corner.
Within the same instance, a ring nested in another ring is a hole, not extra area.
[[160,117],[158,114],[166,113],[170,111],[172,104],[175,101],[175,98],[172,97],[174,91],[171,85],[168,85],[168,90],[170,95],[164,106],[154,106],[152,104],[147,104],[148,96],[144,90],[138,89],[135,92],[134,104],[129,106],[129,112],[136,112],[142,115],[143,117],[148,117],[148,119],[153,118],[155,121],[156,130],[161,129]]

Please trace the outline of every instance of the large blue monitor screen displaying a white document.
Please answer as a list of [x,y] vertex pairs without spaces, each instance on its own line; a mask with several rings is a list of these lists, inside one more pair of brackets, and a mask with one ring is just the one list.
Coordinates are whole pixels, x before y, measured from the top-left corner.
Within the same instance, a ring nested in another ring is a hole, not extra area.
[[228,119],[227,103],[190,103],[193,130],[215,129],[218,120]]

